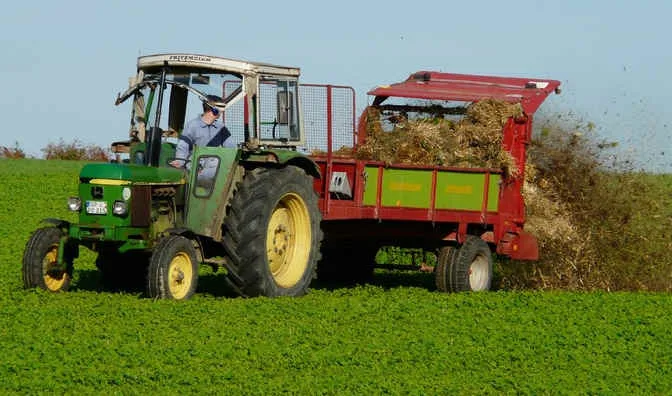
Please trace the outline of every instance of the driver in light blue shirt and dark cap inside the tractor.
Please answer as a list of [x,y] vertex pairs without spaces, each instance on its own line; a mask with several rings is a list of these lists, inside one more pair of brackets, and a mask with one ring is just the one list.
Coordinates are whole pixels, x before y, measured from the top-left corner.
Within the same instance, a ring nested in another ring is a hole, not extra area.
[[236,147],[230,139],[231,132],[220,120],[220,110],[214,105],[222,99],[216,95],[206,97],[208,100],[203,101],[203,113],[187,122],[177,142],[175,160],[170,162],[176,168],[185,166],[194,151],[194,146]]

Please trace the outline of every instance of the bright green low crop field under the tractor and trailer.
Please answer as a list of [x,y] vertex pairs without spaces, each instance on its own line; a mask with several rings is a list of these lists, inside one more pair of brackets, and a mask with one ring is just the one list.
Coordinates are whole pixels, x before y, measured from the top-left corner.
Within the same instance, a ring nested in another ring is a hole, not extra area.
[[0,160],[0,394],[670,394],[664,293],[450,295],[427,273],[302,298],[232,298],[204,268],[189,301],[23,290],[45,217],[70,218],[81,163]]

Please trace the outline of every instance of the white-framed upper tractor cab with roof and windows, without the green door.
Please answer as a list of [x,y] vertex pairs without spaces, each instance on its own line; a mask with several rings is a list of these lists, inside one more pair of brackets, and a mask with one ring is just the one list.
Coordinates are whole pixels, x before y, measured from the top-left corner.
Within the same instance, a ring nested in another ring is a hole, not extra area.
[[212,95],[237,147],[303,145],[298,68],[186,54],[144,56],[137,66],[116,100],[133,101],[130,140],[113,144],[130,163],[169,166],[185,124]]

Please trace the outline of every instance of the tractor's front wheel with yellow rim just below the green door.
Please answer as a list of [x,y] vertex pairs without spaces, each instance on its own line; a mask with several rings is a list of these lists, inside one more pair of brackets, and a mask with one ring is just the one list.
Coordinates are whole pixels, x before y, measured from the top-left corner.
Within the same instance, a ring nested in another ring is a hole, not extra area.
[[191,240],[171,235],[159,241],[149,260],[147,295],[187,300],[198,285],[198,261]]

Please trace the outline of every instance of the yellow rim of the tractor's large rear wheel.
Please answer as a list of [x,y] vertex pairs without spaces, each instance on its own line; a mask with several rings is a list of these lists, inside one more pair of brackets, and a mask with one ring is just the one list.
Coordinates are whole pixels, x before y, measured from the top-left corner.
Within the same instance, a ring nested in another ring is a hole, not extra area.
[[284,195],[273,209],[266,233],[266,257],[275,282],[295,286],[308,267],[312,232],[303,199]]

